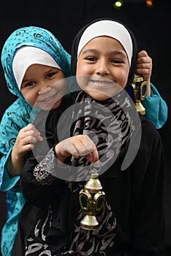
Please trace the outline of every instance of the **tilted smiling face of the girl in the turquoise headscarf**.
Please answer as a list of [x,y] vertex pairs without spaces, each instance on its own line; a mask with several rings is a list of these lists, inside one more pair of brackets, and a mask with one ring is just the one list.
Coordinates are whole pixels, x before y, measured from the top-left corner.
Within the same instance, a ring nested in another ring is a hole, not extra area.
[[20,88],[30,105],[43,110],[58,108],[66,92],[64,73],[56,67],[32,64],[26,70]]

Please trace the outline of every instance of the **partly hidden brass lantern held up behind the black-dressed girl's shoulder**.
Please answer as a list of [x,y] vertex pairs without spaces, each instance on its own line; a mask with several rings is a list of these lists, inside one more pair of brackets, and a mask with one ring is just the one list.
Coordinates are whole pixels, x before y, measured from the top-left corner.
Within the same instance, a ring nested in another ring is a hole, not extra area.
[[145,108],[143,107],[141,101],[145,99],[147,94],[147,82],[143,80],[141,75],[134,75],[133,83],[131,84],[133,89],[133,98],[134,98],[134,105],[137,109],[137,112],[145,115]]

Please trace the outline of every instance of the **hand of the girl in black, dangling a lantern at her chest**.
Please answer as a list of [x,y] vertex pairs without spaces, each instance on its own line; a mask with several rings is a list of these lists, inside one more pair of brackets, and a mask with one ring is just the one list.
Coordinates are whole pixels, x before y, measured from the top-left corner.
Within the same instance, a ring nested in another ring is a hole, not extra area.
[[73,156],[76,159],[86,157],[90,162],[99,161],[98,151],[94,142],[88,135],[77,135],[61,141],[55,147],[59,161],[64,162],[66,157]]

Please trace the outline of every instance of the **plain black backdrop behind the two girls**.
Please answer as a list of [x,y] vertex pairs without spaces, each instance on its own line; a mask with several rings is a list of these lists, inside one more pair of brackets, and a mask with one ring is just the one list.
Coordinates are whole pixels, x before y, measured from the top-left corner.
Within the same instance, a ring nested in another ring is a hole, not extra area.
[[[171,29],[170,0],[154,0],[153,7],[146,7],[145,1],[123,0],[121,10],[115,10],[111,0],[72,0],[72,1],[3,1],[0,7],[0,51],[5,40],[15,29],[22,26],[40,26],[56,35],[70,53],[72,39],[77,31],[94,18],[112,17],[123,21],[137,37],[139,50],[146,50],[153,59],[151,82],[167,102],[169,116],[164,127],[159,129],[165,153],[166,211],[166,255],[171,255]],[[129,1],[130,2],[130,1]],[[15,97],[7,90],[2,68],[0,67],[0,119],[4,110]],[[0,228],[5,219],[5,194],[0,193]]]

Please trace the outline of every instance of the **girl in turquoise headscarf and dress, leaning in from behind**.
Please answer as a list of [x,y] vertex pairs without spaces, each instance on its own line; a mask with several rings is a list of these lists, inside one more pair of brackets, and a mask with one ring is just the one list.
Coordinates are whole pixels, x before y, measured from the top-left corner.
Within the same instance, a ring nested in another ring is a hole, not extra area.
[[[18,230],[18,217],[25,203],[20,191],[20,172],[25,155],[42,140],[31,123],[40,109],[58,108],[66,92],[70,56],[58,39],[46,29],[28,26],[15,30],[4,43],[1,63],[7,86],[18,99],[1,119],[1,191],[7,191],[7,222],[1,236],[1,255],[11,255]],[[39,102],[37,98],[39,97]],[[34,108],[33,108],[34,106]]]

